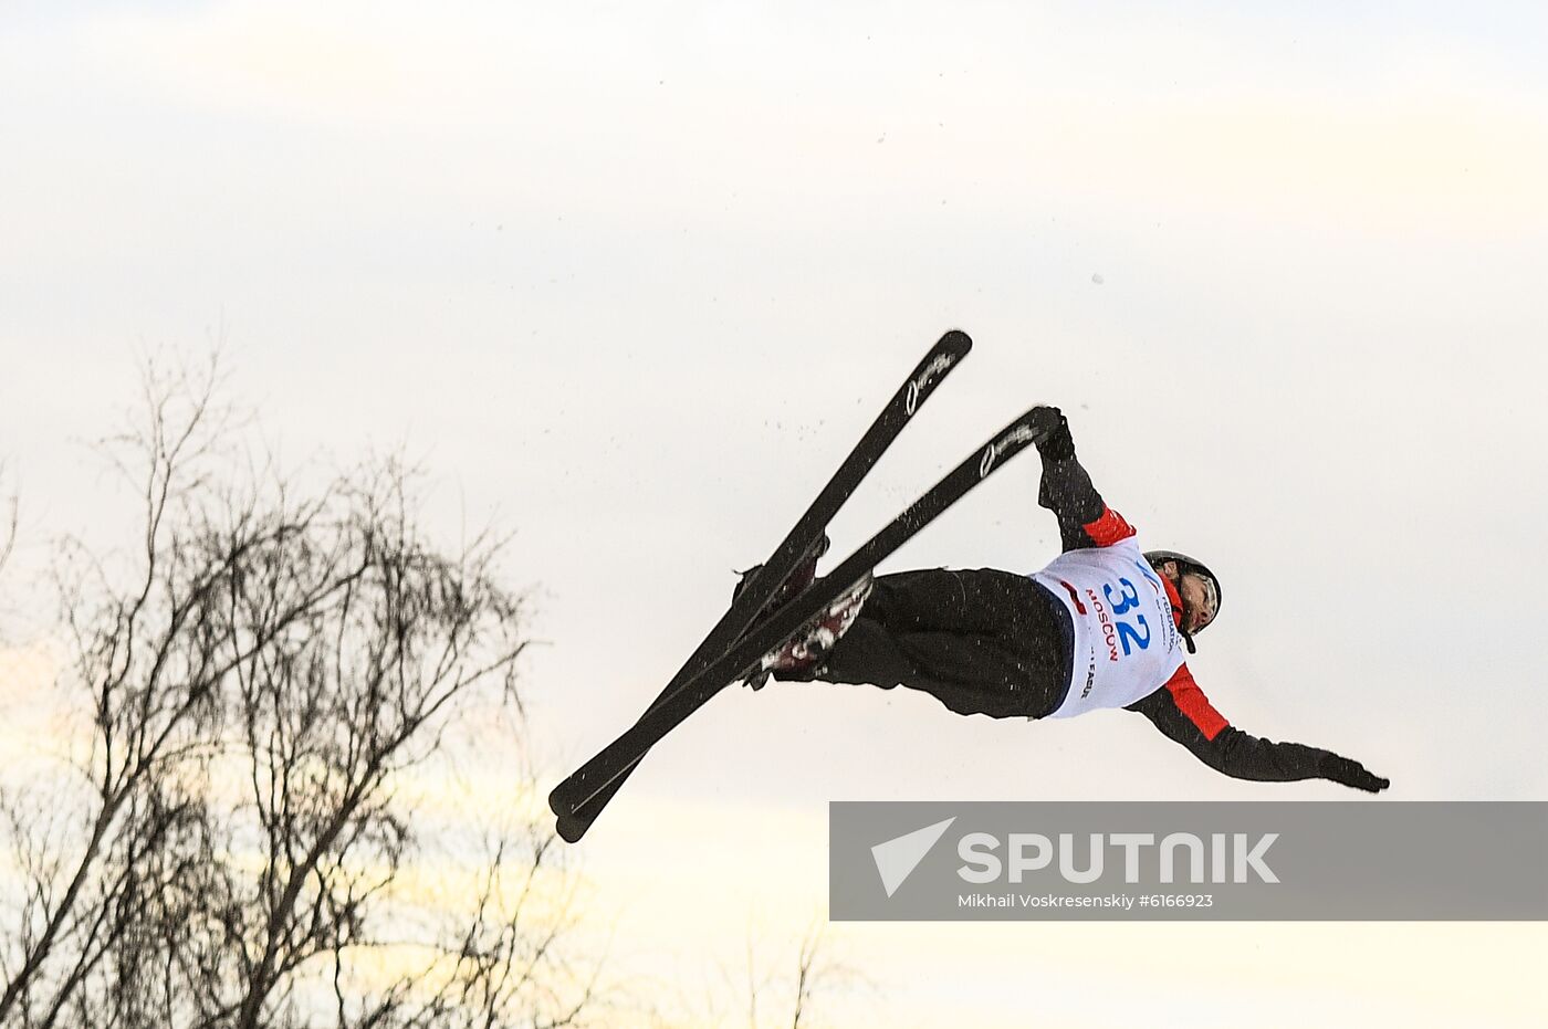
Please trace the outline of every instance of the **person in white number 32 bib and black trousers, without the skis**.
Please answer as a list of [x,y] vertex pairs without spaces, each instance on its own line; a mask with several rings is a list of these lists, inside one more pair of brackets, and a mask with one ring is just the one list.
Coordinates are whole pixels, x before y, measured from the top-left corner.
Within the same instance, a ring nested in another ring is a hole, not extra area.
[[[1183,647],[1194,653],[1194,636],[1214,622],[1220,580],[1186,554],[1141,551],[1076,460],[1065,416],[1040,413],[1039,504],[1057,517],[1063,543],[1053,563],[1033,576],[937,568],[867,577],[763,668],[786,681],[906,685],[963,715],[1070,718],[1122,707],[1235,778],[1385,789],[1389,780],[1359,761],[1251,737],[1211,706]],[[776,603],[811,582],[819,556]]]

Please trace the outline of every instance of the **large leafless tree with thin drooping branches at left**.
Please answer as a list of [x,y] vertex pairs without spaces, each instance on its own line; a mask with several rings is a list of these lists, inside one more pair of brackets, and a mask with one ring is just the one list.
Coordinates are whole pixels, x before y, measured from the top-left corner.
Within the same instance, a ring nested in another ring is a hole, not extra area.
[[252,461],[215,362],[144,382],[107,441],[135,546],[60,562],[76,778],[5,798],[0,1026],[582,1024],[596,975],[536,823],[492,820],[454,904],[404,874],[438,842],[402,783],[519,707],[500,540],[435,546],[393,460],[310,491]]

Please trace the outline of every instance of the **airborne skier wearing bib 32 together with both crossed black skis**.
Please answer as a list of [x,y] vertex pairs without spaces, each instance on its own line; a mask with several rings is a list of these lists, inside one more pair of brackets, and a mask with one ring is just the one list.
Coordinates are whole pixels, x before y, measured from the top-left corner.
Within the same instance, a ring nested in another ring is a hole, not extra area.
[[[1220,610],[1220,580],[1201,562],[1141,551],[1074,456],[1063,415],[1033,407],[992,435],[822,579],[827,526],[924,401],[972,348],[950,330],[882,407],[837,470],[635,724],[548,794],[571,843],[650,747],[735,681],[870,682],[924,690],[964,715],[1070,718],[1125,707],[1226,775],[1327,778],[1376,792],[1359,761],[1234,729],[1183,664],[1183,647]],[[971,489],[1037,446],[1039,503],[1059,520],[1063,554],[1048,568],[943,568],[875,577],[887,560]]]

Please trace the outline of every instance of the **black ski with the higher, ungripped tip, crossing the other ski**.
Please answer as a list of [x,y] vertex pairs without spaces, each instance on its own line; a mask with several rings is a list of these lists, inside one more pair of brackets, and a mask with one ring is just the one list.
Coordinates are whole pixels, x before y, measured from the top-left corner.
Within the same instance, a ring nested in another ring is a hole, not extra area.
[[[872,427],[865,430],[861,441],[854,444],[848,456],[839,466],[828,484],[822,487],[817,498],[807,512],[796,521],[763,566],[746,582],[741,591],[731,602],[731,608],[720,617],[698,648],[689,656],[672,681],[667,682],[661,695],[652,703],[659,704],[667,696],[676,693],[684,682],[698,676],[715,658],[721,656],[757,619],[759,611],[768,603],[774,593],[789,579],[791,573],[813,548],[828,523],[861,484],[865,475],[881,460],[887,447],[898,438],[902,427],[929,399],[947,373],[968,356],[972,340],[966,333],[949,331],[930,348],[924,359],[909,374],[896,395],[887,402]],[[641,754],[641,757],[644,757]],[[636,758],[638,763],[638,758]],[[632,767],[632,766],[630,766]],[[630,769],[610,778],[602,789],[590,788],[590,777],[582,767],[574,775],[560,783],[548,795],[548,806],[560,817],[560,836],[563,822],[584,819],[582,806],[590,806],[596,812],[607,805],[607,800],[624,785]],[[594,817],[594,815],[593,815]],[[584,819],[590,823],[590,819]],[[580,829],[584,832],[584,829]],[[570,839],[565,836],[565,839]],[[579,839],[579,836],[576,836]]]

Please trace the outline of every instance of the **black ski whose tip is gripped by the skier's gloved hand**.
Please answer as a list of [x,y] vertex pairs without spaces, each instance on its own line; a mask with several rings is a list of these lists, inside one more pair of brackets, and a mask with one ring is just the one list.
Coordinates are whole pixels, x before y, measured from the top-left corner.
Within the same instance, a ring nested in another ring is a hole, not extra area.
[[[763,655],[776,647],[782,647],[844,591],[858,583],[870,569],[933,521],[943,511],[961,500],[968,491],[988,478],[1009,458],[1042,439],[1046,430],[1037,427],[1037,410],[1034,407],[1006,426],[981,450],[952,469],[946,478],[930,487],[907,511],[850,554],[844,563],[819,579],[766,620],[752,627],[724,655],[709,662],[698,676],[664,693],[638,723],[580,766],[570,780],[560,783],[560,788],[567,788],[568,795],[576,800],[573,809],[587,808],[588,805],[591,808],[587,812],[587,819],[560,819],[560,836],[571,843],[580,839],[601,811],[594,798],[619,775],[628,774],[666,733],[680,726],[721,689],[757,672]],[[570,783],[576,783],[576,786],[570,789]]]

